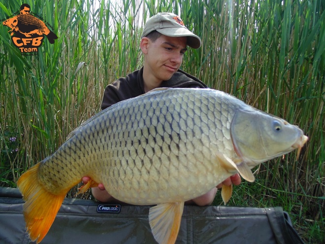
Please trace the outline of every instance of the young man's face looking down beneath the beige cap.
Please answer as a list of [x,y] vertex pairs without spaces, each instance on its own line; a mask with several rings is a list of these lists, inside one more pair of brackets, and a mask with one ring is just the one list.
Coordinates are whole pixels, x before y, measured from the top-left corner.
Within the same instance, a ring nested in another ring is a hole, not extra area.
[[182,64],[186,43],[187,37],[161,35],[154,42],[149,39],[145,51],[142,49],[147,74],[156,82],[170,79]]

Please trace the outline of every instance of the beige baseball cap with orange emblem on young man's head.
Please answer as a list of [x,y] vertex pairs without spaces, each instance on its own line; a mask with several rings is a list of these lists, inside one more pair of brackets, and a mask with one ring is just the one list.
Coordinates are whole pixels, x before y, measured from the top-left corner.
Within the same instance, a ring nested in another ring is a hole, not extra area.
[[158,13],[144,25],[141,37],[147,36],[152,31],[157,31],[167,36],[187,36],[187,44],[192,48],[201,46],[201,39],[190,32],[180,17],[173,13]]

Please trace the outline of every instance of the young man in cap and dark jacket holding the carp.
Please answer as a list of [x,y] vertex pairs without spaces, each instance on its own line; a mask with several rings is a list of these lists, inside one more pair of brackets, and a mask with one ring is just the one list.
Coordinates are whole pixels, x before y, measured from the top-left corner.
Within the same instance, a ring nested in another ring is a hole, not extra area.
[[[199,48],[201,39],[190,32],[177,15],[158,13],[151,17],[144,26],[140,42],[140,48],[144,55],[143,67],[108,85],[104,92],[101,108],[105,109],[110,105],[134,98],[158,87],[207,88],[199,79],[179,70],[187,46]],[[84,183],[88,181],[89,177],[83,177]],[[218,187],[232,183],[238,185],[240,182],[239,175],[235,174]],[[116,201],[105,190],[102,183],[93,187],[92,192],[100,202]],[[217,187],[186,204],[210,205],[216,193]]]

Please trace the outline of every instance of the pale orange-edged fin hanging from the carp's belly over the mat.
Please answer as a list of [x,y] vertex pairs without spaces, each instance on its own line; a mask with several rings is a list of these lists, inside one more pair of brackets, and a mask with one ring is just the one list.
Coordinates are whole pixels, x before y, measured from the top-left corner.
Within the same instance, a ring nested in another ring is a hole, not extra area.
[[174,244],[181,225],[184,202],[159,204],[149,209],[149,224],[159,244]]

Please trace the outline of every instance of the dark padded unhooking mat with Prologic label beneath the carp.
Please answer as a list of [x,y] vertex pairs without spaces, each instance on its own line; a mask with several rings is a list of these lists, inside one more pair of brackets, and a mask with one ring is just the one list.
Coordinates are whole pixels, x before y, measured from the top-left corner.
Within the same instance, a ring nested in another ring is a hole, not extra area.
[[[18,189],[0,187],[0,244],[34,243],[23,203]],[[149,208],[66,198],[41,244],[155,244]],[[227,243],[303,244],[280,207],[184,207],[176,244]]]

